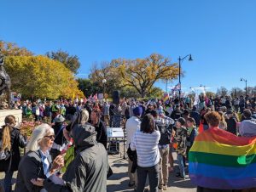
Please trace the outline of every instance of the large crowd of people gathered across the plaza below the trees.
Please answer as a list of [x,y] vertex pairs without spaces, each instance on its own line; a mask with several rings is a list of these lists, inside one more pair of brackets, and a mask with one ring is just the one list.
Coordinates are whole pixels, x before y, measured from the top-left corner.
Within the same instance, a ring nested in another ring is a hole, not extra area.
[[[0,172],[5,172],[6,192],[11,191],[15,171],[15,191],[107,191],[111,172],[107,127],[124,125],[128,187],[137,192],[144,190],[147,176],[150,191],[166,190],[170,172],[178,179],[188,178],[189,150],[198,134],[212,128],[212,112],[218,116],[217,127],[225,132],[256,135],[255,98],[242,96],[201,96],[196,104],[188,97],[122,99],[119,104],[61,99],[16,102],[14,108],[22,110],[24,118],[44,123],[33,130],[27,143],[15,117],[6,116],[0,130]],[[27,151],[21,160],[19,147]]]

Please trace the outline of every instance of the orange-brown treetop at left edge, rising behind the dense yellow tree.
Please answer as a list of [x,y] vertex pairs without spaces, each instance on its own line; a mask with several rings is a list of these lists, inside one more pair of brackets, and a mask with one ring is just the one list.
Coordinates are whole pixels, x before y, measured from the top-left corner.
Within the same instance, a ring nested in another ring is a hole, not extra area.
[[32,52],[26,48],[19,48],[13,42],[4,42],[0,40],[0,49],[4,56],[32,56]]

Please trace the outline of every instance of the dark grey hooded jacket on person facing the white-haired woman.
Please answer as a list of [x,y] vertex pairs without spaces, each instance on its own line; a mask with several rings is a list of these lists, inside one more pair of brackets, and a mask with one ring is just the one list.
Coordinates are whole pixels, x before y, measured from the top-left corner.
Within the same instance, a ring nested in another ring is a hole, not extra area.
[[66,184],[53,184],[47,179],[44,188],[48,192],[107,191],[108,154],[103,144],[96,142],[95,127],[90,124],[75,126],[73,139],[77,155],[63,175]]

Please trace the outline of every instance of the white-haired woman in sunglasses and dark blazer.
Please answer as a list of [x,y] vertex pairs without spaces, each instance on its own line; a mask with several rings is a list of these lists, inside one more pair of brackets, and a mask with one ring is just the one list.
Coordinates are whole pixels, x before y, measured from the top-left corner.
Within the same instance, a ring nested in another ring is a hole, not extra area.
[[43,187],[32,184],[33,178],[49,178],[64,165],[61,155],[52,162],[49,155],[55,140],[55,132],[48,124],[36,127],[27,144],[27,153],[20,161],[17,175],[16,192],[44,191]]

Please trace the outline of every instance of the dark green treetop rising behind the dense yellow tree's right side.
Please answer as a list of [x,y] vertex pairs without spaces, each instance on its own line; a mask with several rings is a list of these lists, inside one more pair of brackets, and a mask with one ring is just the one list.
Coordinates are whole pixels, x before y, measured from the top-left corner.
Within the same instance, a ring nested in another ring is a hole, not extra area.
[[72,71],[74,74],[78,73],[80,62],[79,57],[77,55],[69,55],[66,51],[62,51],[61,49],[56,52],[47,52],[46,56],[50,59],[55,59],[64,64],[67,69]]

